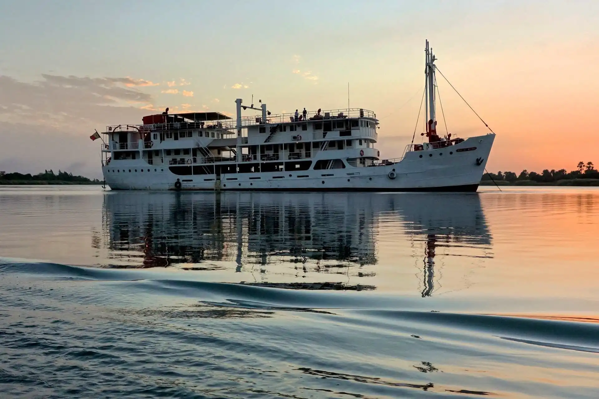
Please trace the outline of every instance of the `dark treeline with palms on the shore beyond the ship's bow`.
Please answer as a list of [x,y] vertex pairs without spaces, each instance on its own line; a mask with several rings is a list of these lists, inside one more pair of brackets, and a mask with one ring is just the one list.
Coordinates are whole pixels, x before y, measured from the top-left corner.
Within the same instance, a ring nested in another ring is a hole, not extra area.
[[[503,182],[503,184],[515,184],[525,185],[531,184],[555,184],[558,182],[568,184],[568,180],[580,182],[580,185],[585,184],[585,179],[599,179],[599,170],[596,170],[592,162],[579,162],[576,166],[576,170],[568,172],[565,169],[544,169],[543,172],[528,172],[528,170],[522,170],[518,175],[514,172],[497,172],[497,173],[485,173],[482,178],[482,182],[490,182],[494,180],[496,182]],[[590,181],[588,181],[590,183]],[[578,184],[577,184],[578,185]],[[594,184],[593,184],[594,185]]]

